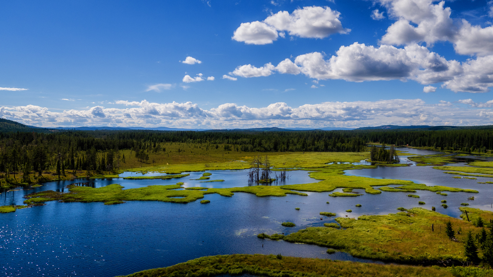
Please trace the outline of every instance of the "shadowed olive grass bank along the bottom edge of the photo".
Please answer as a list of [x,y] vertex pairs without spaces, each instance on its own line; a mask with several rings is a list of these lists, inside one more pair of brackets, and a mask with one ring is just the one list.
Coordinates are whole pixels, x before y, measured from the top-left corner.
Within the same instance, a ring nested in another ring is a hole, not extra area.
[[265,277],[492,277],[479,268],[439,268],[380,265],[280,255],[217,255],[202,257],[167,268],[149,269],[127,277],[212,277],[251,274]]

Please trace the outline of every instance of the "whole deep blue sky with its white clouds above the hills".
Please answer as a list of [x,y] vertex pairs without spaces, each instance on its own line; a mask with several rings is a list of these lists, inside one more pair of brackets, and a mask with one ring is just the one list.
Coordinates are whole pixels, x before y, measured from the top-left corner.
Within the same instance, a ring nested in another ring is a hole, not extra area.
[[492,1],[0,3],[0,117],[29,125],[492,124]]

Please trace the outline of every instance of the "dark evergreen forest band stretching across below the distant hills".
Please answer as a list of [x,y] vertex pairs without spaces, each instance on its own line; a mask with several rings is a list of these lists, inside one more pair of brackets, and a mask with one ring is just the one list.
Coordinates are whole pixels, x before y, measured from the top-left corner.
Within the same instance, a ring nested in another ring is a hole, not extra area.
[[[440,150],[487,153],[493,147],[493,130],[352,130],[352,131],[0,131],[0,172],[43,171],[115,172],[125,158],[149,160],[149,153],[170,152],[171,144],[185,144],[207,152],[359,152],[367,143],[431,147]],[[166,149],[168,145],[168,151]],[[193,145],[193,146],[191,146]],[[181,146],[174,152],[184,151]],[[125,157],[121,150],[130,150]],[[187,150],[188,151],[188,150]],[[223,152],[223,153],[225,153]],[[491,152],[491,151],[490,151]],[[179,154],[179,153],[178,153]],[[134,157],[135,155],[135,157]],[[379,154],[380,155],[380,154]],[[380,155],[382,156],[382,155]],[[392,160],[394,155],[376,158]],[[387,157],[388,156],[388,157]],[[169,153],[168,153],[169,157]],[[0,177],[1,178],[1,177]],[[28,180],[22,180],[28,181]]]

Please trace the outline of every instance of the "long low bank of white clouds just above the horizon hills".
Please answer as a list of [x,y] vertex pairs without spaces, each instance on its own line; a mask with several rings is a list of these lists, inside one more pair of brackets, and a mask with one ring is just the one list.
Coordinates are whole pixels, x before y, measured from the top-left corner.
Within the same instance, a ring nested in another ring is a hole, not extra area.
[[[397,125],[484,125],[493,119],[493,100],[475,103],[440,101],[426,104],[421,99],[393,99],[375,102],[325,102],[298,107],[279,102],[253,108],[233,103],[204,109],[199,104],[115,101],[120,107],[93,106],[82,110],[53,112],[35,105],[0,107],[0,117],[39,127],[141,126],[190,128],[251,127],[364,127]],[[468,107],[458,104],[466,104]],[[121,107],[124,105],[124,107]]]

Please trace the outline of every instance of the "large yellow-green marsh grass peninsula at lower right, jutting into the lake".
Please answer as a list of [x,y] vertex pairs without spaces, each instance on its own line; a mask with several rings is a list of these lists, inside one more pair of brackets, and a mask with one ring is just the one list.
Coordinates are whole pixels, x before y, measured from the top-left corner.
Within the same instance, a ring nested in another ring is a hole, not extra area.
[[[471,209],[469,218],[472,213],[481,214],[485,220],[493,218],[490,211],[475,210]],[[335,220],[347,229],[309,227],[287,235],[284,240],[341,249],[355,257],[384,261],[439,264],[441,260],[450,259],[461,263],[465,261],[462,243],[465,234],[469,230],[473,234],[480,231],[471,222],[423,208],[388,215],[362,215],[358,220],[346,217]],[[450,241],[445,234],[445,223],[449,220],[454,230],[462,229],[461,234],[456,235],[459,242]],[[431,224],[434,224],[434,232]]]

